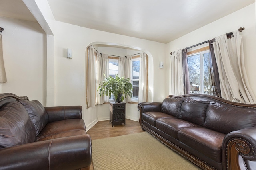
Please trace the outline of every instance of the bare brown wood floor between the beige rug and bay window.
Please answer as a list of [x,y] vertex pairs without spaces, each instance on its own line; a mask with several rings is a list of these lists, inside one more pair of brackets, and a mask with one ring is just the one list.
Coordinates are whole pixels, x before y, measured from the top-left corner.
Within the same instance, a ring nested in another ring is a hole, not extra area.
[[[114,125],[114,127],[109,123],[109,120],[98,121],[90,130],[87,131],[87,133],[90,134],[92,140],[95,140],[145,132],[142,131],[138,121],[132,121],[130,119],[125,119],[125,121],[125,125],[122,123],[120,125]],[[90,166],[90,170],[93,170],[92,164]]]

